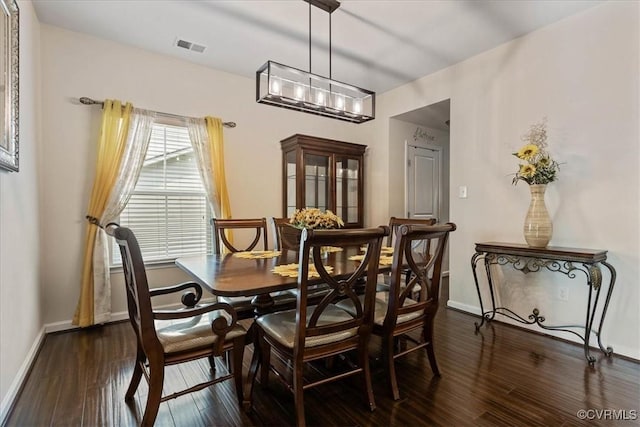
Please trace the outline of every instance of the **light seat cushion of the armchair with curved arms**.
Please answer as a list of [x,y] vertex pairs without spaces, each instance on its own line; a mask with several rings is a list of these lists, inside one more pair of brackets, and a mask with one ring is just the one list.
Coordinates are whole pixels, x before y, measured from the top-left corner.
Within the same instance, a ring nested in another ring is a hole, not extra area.
[[[221,316],[227,318],[228,322],[231,321],[224,310],[215,310],[185,319],[155,320],[156,334],[165,353],[209,347],[218,339],[211,329],[211,322]],[[246,333],[244,327],[236,325],[225,338],[228,341]]]

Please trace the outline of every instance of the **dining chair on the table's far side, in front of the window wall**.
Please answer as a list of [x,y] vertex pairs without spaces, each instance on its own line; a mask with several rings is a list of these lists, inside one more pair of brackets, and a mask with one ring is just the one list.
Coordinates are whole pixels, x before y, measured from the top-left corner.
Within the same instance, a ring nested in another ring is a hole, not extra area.
[[[267,220],[266,218],[241,218],[241,219],[218,219],[212,218],[214,237],[214,253],[222,254],[224,248],[229,252],[246,252],[252,251],[259,247],[262,240],[262,250],[268,250],[269,239],[267,237]],[[247,230],[249,231],[249,239],[253,239],[248,245],[238,246],[237,243],[231,243],[227,236],[227,230]],[[240,247],[240,249],[239,249]],[[291,308],[295,305],[295,298],[288,292],[273,292],[270,294],[273,300],[273,306],[278,308]],[[250,319],[255,316],[252,304],[253,297],[225,297],[218,296],[218,301],[231,305],[240,319]]]

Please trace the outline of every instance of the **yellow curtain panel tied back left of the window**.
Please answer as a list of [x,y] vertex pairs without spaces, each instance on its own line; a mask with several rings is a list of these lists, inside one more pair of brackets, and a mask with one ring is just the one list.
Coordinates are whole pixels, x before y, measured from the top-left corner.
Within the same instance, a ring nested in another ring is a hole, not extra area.
[[123,108],[120,101],[104,101],[96,174],[87,211],[89,223],[86,227],[80,298],[73,316],[74,325],[94,324],[93,252],[99,226],[98,219],[102,217],[109,195],[116,183],[127,141],[132,109],[130,103]]

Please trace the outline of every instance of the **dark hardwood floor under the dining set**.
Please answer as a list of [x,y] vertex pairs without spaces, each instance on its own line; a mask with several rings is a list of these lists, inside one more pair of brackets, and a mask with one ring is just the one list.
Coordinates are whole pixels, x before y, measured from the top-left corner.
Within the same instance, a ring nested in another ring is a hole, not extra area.
[[[414,352],[397,363],[401,400],[389,397],[384,372],[374,369],[375,411],[367,409],[361,381],[354,377],[306,392],[307,423],[639,425],[639,363],[615,354],[605,358],[598,351],[594,353],[598,361],[591,368],[582,347],[576,344],[497,322],[476,334],[475,317],[445,308],[436,319],[440,378],[431,375],[426,355]],[[377,339],[372,342],[372,351],[378,344]],[[128,406],[124,402],[134,357],[134,335],[125,322],[48,335],[7,425],[137,425],[145,402],[144,380],[135,403]],[[250,357],[249,346],[246,364]],[[208,375],[206,360],[171,367],[165,378],[165,393]],[[162,403],[156,425],[290,425],[294,422],[293,409],[293,395],[274,378],[266,389],[256,386],[254,410],[245,414],[238,407],[232,384],[225,382]],[[590,419],[581,419],[580,411],[588,411]]]

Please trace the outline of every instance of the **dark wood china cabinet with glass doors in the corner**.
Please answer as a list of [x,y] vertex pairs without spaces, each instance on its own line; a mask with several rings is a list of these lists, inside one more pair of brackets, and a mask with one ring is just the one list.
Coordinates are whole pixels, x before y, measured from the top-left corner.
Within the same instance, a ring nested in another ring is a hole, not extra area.
[[302,208],[329,209],[345,227],[363,227],[367,146],[299,134],[280,144],[283,215]]

